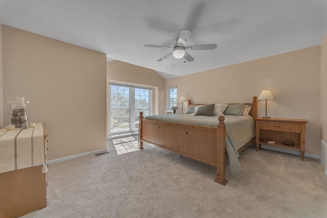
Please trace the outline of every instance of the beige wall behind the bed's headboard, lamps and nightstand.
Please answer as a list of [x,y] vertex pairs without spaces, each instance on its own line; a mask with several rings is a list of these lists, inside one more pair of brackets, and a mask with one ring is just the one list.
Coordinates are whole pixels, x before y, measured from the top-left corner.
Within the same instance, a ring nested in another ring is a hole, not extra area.
[[[307,119],[306,153],[320,155],[320,45],[166,80],[172,85],[198,104],[246,103],[271,90],[267,115]],[[259,116],[264,108],[259,100]]]

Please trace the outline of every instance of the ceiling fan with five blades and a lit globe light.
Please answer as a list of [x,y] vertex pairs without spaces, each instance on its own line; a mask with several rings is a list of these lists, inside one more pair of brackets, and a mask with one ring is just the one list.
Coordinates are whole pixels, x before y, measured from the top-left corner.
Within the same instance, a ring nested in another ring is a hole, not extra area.
[[173,47],[171,46],[162,46],[162,45],[152,45],[152,44],[145,44],[145,47],[157,47],[160,49],[172,49],[173,51],[165,55],[164,57],[158,59],[157,61],[165,60],[170,56],[174,56],[177,59],[184,58],[186,61],[194,61],[194,58],[188,53],[187,51],[191,50],[213,50],[216,49],[217,44],[199,44],[199,45],[188,45],[185,46],[186,41],[191,36],[191,31],[189,30],[182,30],[179,34],[179,37],[176,38],[176,42]]

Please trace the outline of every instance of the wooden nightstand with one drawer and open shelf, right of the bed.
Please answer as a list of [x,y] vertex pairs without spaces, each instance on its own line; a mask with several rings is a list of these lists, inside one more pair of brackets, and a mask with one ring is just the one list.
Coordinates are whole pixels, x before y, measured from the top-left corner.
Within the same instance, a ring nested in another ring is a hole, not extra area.
[[[256,151],[259,151],[262,144],[266,146],[283,149],[296,150],[301,152],[301,160],[305,157],[306,146],[306,119],[285,119],[285,118],[255,118],[256,128]],[[270,139],[274,143],[267,143],[261,139]],[[293,142],[294,145],[283,144],[282,141]]]

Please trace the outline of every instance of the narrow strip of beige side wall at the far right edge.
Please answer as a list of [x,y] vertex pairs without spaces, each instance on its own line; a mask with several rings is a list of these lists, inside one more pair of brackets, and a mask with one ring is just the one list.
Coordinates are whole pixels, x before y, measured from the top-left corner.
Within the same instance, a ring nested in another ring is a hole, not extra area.
[[321,42],[321,96],[320,96],[320,116],[321,116],[321,139],[327,143],[327,34]]

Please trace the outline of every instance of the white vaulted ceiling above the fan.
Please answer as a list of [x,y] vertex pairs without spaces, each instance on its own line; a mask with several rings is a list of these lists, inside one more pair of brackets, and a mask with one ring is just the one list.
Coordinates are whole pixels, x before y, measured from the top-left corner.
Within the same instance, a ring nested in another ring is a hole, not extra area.
[[[327,0],[0,0],[0,23],[156,70],[164,78],[319,45],[327,32]],[[168,59],[181,30],[193,62]]]

